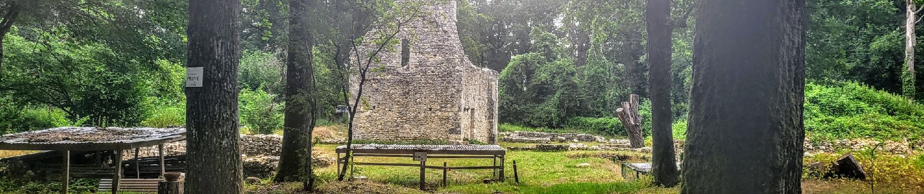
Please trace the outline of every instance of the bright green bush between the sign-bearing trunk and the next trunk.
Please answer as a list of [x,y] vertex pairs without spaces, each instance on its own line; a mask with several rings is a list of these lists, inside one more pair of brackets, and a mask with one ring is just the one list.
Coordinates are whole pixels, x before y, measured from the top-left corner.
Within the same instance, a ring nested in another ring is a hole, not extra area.
[[240,123],[257,134],[273,134],[282,129],[285,105],[274,101],[275,97],[260,88],[241,89],[238,95]]

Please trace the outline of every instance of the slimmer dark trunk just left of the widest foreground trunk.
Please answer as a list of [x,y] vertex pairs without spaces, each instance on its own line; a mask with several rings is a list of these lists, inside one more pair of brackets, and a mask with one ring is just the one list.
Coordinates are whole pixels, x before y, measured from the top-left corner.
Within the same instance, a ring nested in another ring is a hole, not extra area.
[[679,178],[671,131],[671,16],[670,0],[648,0],[645,21],[648,29],[649,95],[651,100],[651,175],[654,184],[674,187]]

